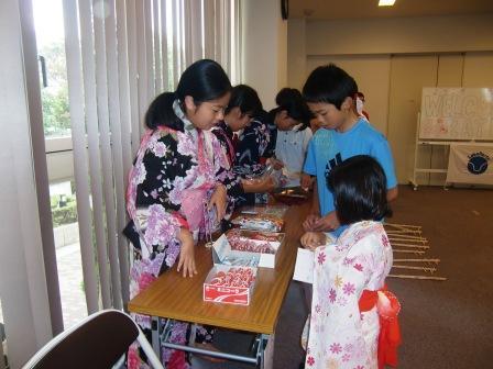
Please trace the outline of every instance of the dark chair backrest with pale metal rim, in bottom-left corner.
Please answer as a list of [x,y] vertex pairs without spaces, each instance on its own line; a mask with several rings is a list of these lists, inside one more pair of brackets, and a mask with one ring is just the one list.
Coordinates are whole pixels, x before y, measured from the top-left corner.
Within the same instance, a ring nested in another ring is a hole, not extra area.
[[121,358],[139,333],[139,326],[125,313],[103,310],[54,337],[23,369],[108,369]]

